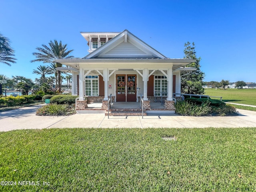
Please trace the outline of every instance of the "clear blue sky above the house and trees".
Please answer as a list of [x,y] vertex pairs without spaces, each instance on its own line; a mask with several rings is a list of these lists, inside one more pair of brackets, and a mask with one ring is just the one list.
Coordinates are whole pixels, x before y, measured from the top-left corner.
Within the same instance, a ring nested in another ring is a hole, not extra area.
[[39,78],[36,47],[61,40],[74,57],[88,54],[80,32],[132,34],[169,58],[183,58],[194,42],[204,81],[256,82],[256,0],[2,0],[0,32],[16,64],[0,74]]

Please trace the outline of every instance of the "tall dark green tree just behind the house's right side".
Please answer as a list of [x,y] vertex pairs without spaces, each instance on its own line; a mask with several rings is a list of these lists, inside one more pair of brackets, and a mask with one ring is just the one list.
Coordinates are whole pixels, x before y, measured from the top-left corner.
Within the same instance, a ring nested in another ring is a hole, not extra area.
[[200,60],[201,58],[196,57],[195,44],[194,42],[190,44],[187,42],[184,44],[184,58],[190,58],[196,60],[191,64],[186,65],[186,67],[195,67],[195,71],[191,71],[190,74],[182,76],[181,79],[181,92],[186,94],[204,94],[203,79],[204,72],[200,70]]

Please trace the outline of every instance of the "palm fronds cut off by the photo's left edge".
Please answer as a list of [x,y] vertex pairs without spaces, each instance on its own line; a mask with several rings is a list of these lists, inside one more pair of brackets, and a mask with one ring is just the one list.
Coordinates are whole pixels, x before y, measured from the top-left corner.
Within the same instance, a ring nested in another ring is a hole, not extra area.
[[16,63],[14,50],[10,47],[10,40],[0,33],[0,63],[11,66],[10,63]]

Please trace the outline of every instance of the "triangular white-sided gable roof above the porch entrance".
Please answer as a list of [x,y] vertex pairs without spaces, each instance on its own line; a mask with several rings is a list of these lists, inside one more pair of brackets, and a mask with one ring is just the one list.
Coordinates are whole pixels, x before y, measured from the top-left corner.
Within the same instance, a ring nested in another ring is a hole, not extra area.
[[84,58],[163,58],[166,56],[124,30]]

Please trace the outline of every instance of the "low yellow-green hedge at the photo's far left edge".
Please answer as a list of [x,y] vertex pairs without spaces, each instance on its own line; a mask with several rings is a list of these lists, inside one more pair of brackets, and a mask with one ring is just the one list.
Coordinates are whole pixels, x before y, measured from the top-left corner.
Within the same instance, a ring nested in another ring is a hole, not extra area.
[[16,106],[24,103],[33,102],[35,95],[8,96],[0,97],[0,106]]

